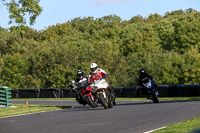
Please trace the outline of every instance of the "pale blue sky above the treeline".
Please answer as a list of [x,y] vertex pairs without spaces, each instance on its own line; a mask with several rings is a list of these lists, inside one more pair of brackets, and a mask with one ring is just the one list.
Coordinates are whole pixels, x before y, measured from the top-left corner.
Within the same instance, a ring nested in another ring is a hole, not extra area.
[[[40,0],[42,13],[36,18],[33,26],[44,30],[51,25],[65,23],[77,17],[101,18],[108,15],[117,15],[122,20],[130,20],[141,15],[165,15],[166,12],[193,8],[200,11],[200,0]],[[0,26],[9,28],[9,12],[0,0]]]

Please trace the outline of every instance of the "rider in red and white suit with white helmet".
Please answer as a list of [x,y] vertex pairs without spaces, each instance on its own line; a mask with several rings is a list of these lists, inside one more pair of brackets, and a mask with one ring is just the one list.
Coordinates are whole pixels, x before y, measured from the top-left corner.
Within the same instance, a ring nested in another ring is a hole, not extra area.
[[[101,68],[98,68],[96,63],[92,63],[90,64],[90,74],[89,74],[89,83],[92,83],[93,80],[98,80],[98,79],[106,79],[108,77],[108,74]],[[98,75],[98,79],[93,79],[94,75]],[[111,94],[111,96],[113,97],[113,105],[116,105],[115,102],[115,94],[114,91],[111,88],[111,85],[109,84],[108,90]]]

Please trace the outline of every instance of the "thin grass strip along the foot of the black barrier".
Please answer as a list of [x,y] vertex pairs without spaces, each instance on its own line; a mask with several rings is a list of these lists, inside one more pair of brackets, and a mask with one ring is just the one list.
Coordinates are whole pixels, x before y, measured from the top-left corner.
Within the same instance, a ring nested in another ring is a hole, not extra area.
[[[159,97],[164,101],[200,100],[200,97]],[[75,98],[14,98],[12,100],[75,100]],[[116,98],[116,100],[147,100],[146,98]]]

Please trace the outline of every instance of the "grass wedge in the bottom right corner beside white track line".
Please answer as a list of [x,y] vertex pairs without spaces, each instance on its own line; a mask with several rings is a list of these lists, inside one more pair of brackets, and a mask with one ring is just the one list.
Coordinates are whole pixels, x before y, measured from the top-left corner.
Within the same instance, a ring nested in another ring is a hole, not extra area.
[[195,133],[200,132],[200,117],[167,126],[152,133]]

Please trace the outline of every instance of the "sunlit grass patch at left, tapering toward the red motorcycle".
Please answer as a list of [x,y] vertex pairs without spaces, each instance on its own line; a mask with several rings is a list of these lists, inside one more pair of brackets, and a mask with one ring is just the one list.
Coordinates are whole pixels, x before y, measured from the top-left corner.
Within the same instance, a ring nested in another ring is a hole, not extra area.
[[0,117],[14,116],[19,114],[36,113],[48,110],[65,109],[71,106],[48,106],[48,105],[32,105],[32,104],[13,104],[9,108],[0,108]]

